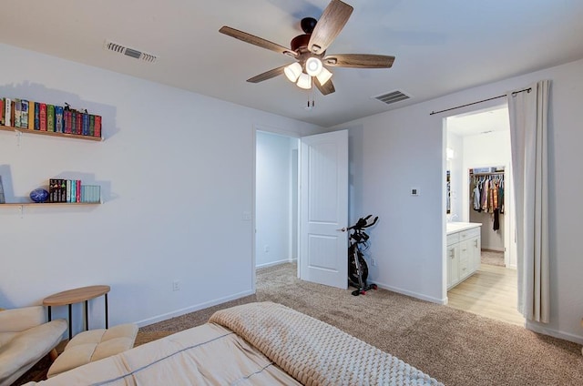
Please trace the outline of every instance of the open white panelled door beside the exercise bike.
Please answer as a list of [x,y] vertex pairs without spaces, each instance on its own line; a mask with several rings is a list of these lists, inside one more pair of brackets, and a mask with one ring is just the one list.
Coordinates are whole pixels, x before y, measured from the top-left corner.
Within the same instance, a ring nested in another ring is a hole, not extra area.
[[302,137],[300,279],[348,287],[348,131]]

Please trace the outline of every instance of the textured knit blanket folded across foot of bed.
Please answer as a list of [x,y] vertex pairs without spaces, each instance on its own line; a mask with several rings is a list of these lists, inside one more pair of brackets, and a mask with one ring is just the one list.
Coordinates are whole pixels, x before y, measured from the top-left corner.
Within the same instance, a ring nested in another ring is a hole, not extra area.
[[442,385],[424,372],[321,320],[260,302],[209,320],[235,331],[304,385]]

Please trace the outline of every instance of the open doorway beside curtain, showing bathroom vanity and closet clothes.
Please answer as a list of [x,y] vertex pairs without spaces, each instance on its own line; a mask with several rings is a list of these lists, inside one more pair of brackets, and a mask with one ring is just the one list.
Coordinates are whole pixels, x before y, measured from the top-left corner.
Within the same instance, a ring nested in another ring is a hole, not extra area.
[[[506,105],[447,117],[446,176],[448,241],[455,223],[467,223],[480,238],[471,274],[459,274],[452,285],[449,264],[453,247],[447,247],[448,305],[524,325],[517,311],[517,258],[512,208],[512,170],[508,110]],[[486,188],[486,190],[484,190]],[[486,196],[486,192],[496,191]],[[476,201],[477,199],[477,201]],[[491,200],[491,201],[489,201]],[[478,230],[479,229],[479,230]],[[463,235],[462,235],[463,236]],[[448,242],[449,244],[449,242]],[[452,250],[451,253],[450,249]],[[460,254],[464,244],[460,242]],[[461,259],[464,259],[462,255]],[[470,258],[471,259],[471,254]],[[461,261],[461,260],[460,260]]]

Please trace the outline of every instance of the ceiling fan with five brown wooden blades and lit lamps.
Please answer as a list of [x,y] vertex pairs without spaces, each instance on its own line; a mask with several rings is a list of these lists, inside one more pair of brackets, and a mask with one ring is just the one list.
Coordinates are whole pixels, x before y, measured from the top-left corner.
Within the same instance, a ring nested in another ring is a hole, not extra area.
[[312,88],[313,84],[323,95],[332,94],[335,89],[332,84],[332,73],[326,68],[390,68],[393,66],[394,56],[369,54],[337,54],[326,55],[326,49],[340,34],[343,26],[353,13],[353,7],[340,0],[332,0],[324,9],[320,20],[313,17],[302,19],[303,35],[292,39],[291,48],[280,46],[259,36],[253,36],[230,26],[222,26],[221,34],[235,37],[251,45],[275,51],[295,58],[291,65],[273,68],[258,76],[247,79],[251,83],[259,83],[275,76],[285,74],[297,86],[305,89]]

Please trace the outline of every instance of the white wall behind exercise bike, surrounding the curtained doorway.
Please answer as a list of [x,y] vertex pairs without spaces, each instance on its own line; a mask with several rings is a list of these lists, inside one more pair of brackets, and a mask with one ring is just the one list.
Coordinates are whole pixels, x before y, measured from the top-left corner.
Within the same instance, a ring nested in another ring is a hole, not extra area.
[[[533,330],[583,343],[583,259],[579,205],[583,179],[583,60],[525,76],[477,86],[449,96],[366,117],[335,128],[351,129],[352,218],[373,213],[381,222],[371,230],[372,269],[380,285],[421,299],[445,300],[445,136],[443,118],[431,111],[465,105],[551,79],[549,115],[549,242],[551,311],[547,325]],[[496,101],[499,104],[499,100]],[[493,107],[483,103],[479,107]],[[462,114],[476,107],[455,110]],[[452,114],[451,112],[449,114]],[[411,197],[409,188],[420,189]]]

